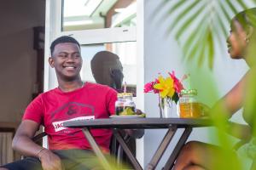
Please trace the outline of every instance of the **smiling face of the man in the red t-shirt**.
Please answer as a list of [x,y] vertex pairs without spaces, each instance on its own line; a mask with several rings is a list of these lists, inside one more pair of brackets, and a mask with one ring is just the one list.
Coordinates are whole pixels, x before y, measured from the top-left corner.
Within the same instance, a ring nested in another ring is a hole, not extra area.
[[57,77],[64,81],[79,78],[82,63],[80,48],[73,42],[56,44],[52,57],[49,58],[49,65],[55,68]]

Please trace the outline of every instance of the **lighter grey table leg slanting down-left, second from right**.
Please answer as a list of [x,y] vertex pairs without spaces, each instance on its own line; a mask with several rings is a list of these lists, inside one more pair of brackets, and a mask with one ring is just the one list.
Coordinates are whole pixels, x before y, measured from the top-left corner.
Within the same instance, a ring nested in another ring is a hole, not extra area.
[[152,157],[151,161],[148,163],[147,170],[154,169],[157,164],[160,161],[160,158],[163,156],[164,152],[166,151],[167,146],[170,144],[172,137],[177,131],[177,127],[171,127],[168,129],[166,132],[166,136],[164,139],[161,141],[158,149],[154,153],[154,156]]

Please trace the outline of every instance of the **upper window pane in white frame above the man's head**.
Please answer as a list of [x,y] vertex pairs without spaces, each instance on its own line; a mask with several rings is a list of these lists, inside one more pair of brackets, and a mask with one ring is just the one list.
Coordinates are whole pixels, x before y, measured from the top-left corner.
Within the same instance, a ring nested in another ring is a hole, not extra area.
[[136,26],[133,0],[62,0],[61,31]]

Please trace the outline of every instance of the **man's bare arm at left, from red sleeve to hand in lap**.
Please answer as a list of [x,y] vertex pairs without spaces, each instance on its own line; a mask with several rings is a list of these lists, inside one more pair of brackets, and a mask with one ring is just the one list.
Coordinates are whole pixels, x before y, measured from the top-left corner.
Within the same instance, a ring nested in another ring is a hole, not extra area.
[[38,157],[44,170],[61,170],[61,159],[59,156],[32,141],[32,137],[37,132],[38,127],[38,122],[22,121],[13,139],[13,149],[20,152],[23,156]]

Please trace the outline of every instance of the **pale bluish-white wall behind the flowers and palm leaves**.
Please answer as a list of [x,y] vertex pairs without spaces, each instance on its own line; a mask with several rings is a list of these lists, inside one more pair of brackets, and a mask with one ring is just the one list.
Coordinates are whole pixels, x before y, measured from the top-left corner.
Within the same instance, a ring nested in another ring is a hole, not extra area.
[[[155,77],[158,76],[158,73],[162,73],[163,76],[166,76],[167,71],[176,71],[177,77],[182,77],[183,74],[188,73],[186,70],[186,63],[183,62],[182,49],[178,46],[173,35],[166,36],[166,28],[170,24],[172,18],[163,20],[161,18],[163,13],[166,11],[168,6],[158,9],[156,15],[153,14],[155,8],[158,4],[163,1],[155,0],[146,0],[144,2],[143,8],[143,31],[138,30],[138,34],[143,33],[142,39],[138,38],[138,52],[143,54],[143,62],[138,63],[138,68],[142,68],[143,65],[143,76],[140,76],[143,81],[141,83],[153,81]],[[160,20],[160,22],[159,22]],[[139,21],[138,21],[139,22]],[[137,23],[138,23],[137,22]],[[139,25],[139,23],[138,23]],[[229,23],[226,23],[227,29],[229,29]],[[225,41],[225,39],[224,39]],[[140,55],[138,55],[140,56]],[[139,59],[140,61],[141,59]],[[195,66],[195,63],[189,63],[189,65]],[[195,66],[196,68],[196,66]],[[198,71],[197,74],[204,74],[206,70]],[[247,71],[247,65],[242,60],[232,60],[229,57],[229,54],[226,51],[216,52],[216,60],[212,73],[207,71],[208,74],[212,77],[218,78],[218,84],[212,84],[212,87],[215,87],[218,90],[218,97],[227,93],[230,88],[232,88],[237,81],[244,75]],[[191,78],[196,75],[191,75]],[[201,89],[203,83],[207,82],[207,77],[205,80],[201,80],[198,84],[195,84],[194,88],[201,90],[201,95],[207,97],[206,89]],[[138,82],[140,83],[140,82]],[[196,86],[198,85],[198,86]],[[211,87],[208,88],[208,90]],[[210,98],[210,96],[208,96]],[[138,105],[144,108],[144,111],[147,113],[148,117],[159,117],[158,109],[158,100],[156,94],[138,94]],[[144,101],[143,101],[144,100]],[[142,103],[143,102],[143,103]],[[236,117],[236,120],[241,121],[241,115]],[[190,135],[189,140],[201,140],[205,142],[211,142],[208,137],[209,128],[198,128],[194,129]],[[147,130],[143,140],[143,154],[144,156],[143,164],[146,165],[150,158],[153,156],[156,147],[160,143],[160,139],[163,138],[165,130]],[[180,131],[179,131],[180,133]],[[176,140],[177,138],[175,138]],[[166,151],[164,155],[164,160],[166,161],[167,156],[170,156],[173,144]],[[141,150],[142,151],[142,150]],[[164,166],[165,161],[160,161],[160,165],[156,169],[160,169]]]

